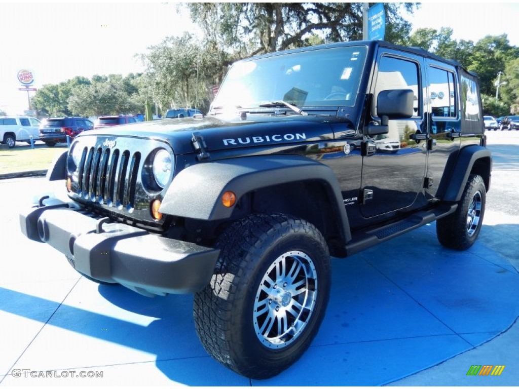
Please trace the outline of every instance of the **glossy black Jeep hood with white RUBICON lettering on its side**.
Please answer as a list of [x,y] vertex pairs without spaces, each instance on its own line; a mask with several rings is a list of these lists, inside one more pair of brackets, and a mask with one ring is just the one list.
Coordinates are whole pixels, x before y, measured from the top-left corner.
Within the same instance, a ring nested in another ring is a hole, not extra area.
[[[77,136],[131,136],[167,142],[176,155],[194,152],[193,133],[206,142],[207,151],[243,147],[270,146],[333,139],[332,116],[250,115],[226,120],[215,116],[203,118],[159,119],[112,126],[84,132]],[[343,120],[344,123],[344,120]],[[121,128],[122,127],[122,128]]]

